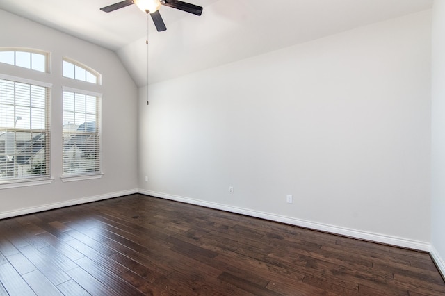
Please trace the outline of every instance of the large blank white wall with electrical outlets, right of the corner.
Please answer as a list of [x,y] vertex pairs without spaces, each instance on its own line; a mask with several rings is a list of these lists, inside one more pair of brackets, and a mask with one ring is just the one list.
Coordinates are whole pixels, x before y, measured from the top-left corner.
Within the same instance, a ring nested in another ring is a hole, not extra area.
[[140,89],[141,191],[428,249],[430,26],[426,11],[156,83],[149,106]]

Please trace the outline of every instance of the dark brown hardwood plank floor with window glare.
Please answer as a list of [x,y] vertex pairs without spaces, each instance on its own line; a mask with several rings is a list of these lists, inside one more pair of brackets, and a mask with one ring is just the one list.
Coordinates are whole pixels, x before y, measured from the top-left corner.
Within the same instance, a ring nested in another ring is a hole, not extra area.
[[0,220],[0,295],[445,295],[429,254],[144,195]]

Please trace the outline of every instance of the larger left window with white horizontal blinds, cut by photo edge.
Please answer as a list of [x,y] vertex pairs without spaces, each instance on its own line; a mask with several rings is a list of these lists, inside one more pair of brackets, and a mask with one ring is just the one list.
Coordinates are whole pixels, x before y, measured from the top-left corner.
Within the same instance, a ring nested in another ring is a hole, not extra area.
[[49,85],[33,83],[0,79],[0,183],[50,177]]

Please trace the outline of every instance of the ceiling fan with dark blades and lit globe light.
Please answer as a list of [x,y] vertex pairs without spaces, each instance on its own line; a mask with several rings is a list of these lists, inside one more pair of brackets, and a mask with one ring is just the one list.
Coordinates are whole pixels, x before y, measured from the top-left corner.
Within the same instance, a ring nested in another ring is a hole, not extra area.
[[100,8],[100,10],[106,13],[111,13],[114,10],[118,10],[119,8],[124,8],[131,4],[136,4],[136,6],[138,6],[140,10],[152,16],[154,26],[156,26],[156,30],[158,32],[167,30],[167,27],[165,27],[161,14],[159,13],[159,8],[161,7],[161,4],[185,11],[186,13],[192,13],[193,15],[202,14],[201,6],[196,6],[194,4],[178,0],[124,0],[118,3],[114,3],[110,6],[102,7]]

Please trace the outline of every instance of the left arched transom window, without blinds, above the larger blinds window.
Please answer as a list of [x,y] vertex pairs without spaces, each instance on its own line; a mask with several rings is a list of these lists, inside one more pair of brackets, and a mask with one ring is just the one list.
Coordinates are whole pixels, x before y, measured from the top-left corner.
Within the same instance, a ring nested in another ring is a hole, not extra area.
[[0,63],[47,72],[48,53],[31,49],[0,49]]

